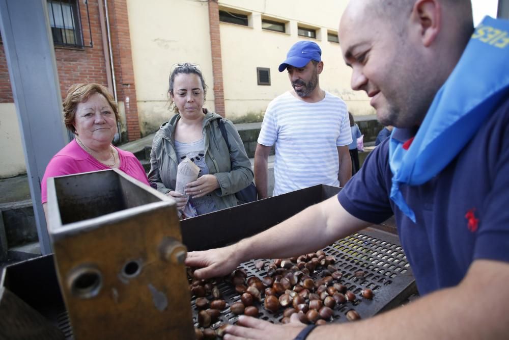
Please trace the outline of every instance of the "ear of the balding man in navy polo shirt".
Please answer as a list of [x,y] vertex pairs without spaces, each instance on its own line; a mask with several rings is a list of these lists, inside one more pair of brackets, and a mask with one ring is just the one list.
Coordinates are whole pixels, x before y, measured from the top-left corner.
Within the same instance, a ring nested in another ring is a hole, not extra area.
[[412,22],[418,25],[422,45],[429,47],[441,28],[442,7],[437,0],[417,0],[412,10]]

